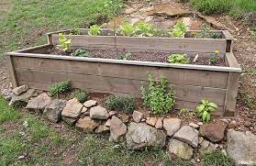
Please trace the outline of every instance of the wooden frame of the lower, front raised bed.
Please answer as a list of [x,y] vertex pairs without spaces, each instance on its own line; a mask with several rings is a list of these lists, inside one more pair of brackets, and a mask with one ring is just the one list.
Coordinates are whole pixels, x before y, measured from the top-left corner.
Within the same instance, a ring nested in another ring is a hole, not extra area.
[[51,83],[71,80],[73,88],[108,94],[140,95],[147,72],[164,75],[175,87],[175,108],[194,110],[201,99],[219,105],[220,114],[235,111],[241,69],[233,53],[225,54],[228,67],[123,61],[45,54],[52,45],[6,53],[13,86],[28,84],[48,90]]

